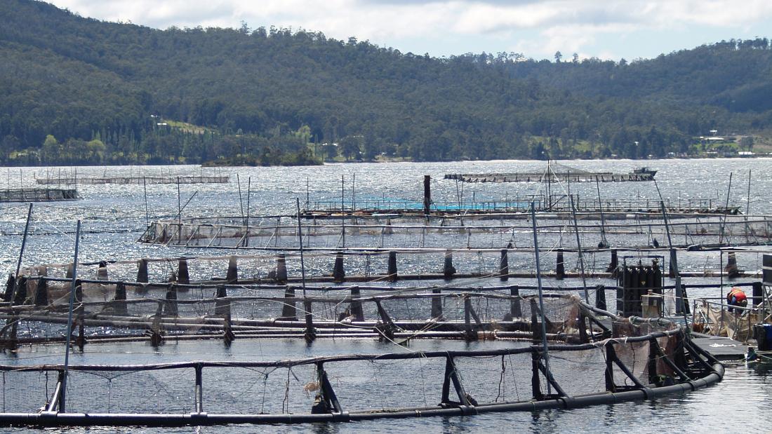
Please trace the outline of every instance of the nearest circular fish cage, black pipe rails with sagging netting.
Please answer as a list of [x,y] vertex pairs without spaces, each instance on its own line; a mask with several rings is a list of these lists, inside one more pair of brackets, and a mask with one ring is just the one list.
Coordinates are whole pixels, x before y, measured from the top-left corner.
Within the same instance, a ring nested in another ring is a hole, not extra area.
[[723,366],[682,326],[621,317],[571,294],[537,297],[511,286],[329,291],[76,280],[73,294],[68,287],[60,278],[9,282],[0,308],[3,345],[60,345],[68,334],[81,348],[266,337],[512,342],[489,350],[273,362],[3,365],[2,426],[343,422],[573,409],[688,392],[723,376]]

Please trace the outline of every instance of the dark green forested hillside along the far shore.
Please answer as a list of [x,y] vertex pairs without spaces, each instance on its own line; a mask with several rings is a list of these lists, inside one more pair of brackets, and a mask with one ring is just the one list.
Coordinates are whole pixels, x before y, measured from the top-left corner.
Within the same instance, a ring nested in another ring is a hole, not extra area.
[[767,39],[632,62],[436,59],[0,0],[0,59],[5,164],[637,158],[686,152],[711,129],[772,130]]

